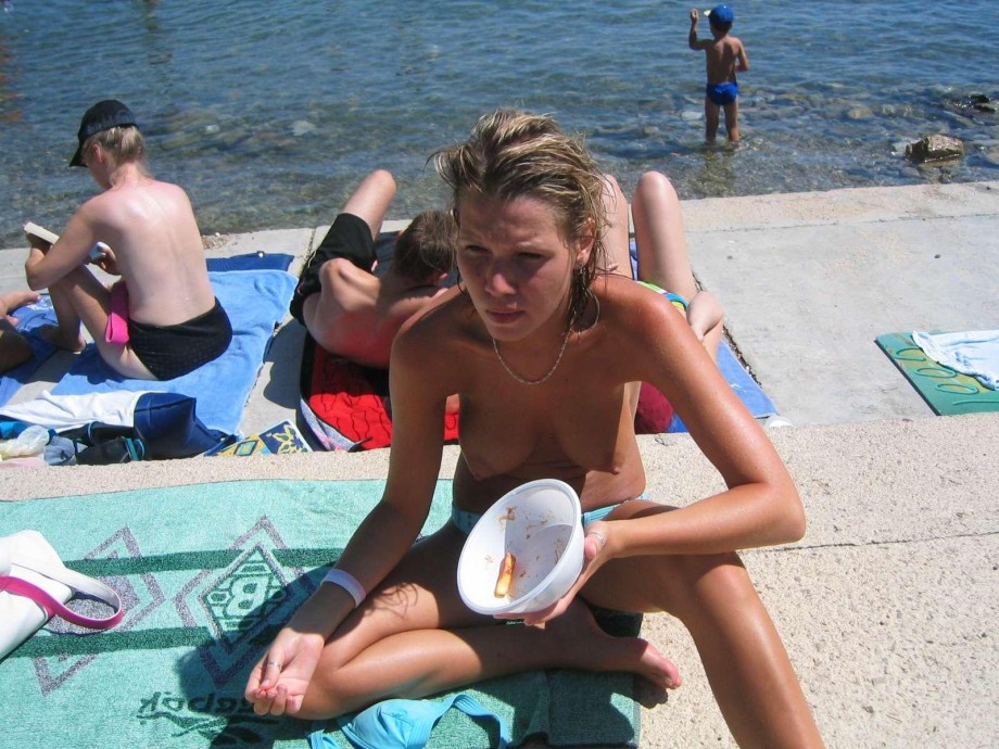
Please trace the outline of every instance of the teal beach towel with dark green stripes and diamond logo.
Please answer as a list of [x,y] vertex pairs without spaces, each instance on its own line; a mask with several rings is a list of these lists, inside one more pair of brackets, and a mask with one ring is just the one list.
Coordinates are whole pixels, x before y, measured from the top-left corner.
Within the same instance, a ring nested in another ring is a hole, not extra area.
[[[0,503],[0,529],[40,531],[67,566],[115,588],[110,632],[52,620],[0,662],[3,746],[298,747],[337,722],[258,716],[250,669],[312,594],[382,481],[246,481]],[[440,482],[425,532],[450,516]],[[636,746],[631,674],[534,671],[463,689],[509,726],[510,746]],[[444,699],[439,695],[434,699]],[[429,747],[495,746],[495,722],[450,710]]]

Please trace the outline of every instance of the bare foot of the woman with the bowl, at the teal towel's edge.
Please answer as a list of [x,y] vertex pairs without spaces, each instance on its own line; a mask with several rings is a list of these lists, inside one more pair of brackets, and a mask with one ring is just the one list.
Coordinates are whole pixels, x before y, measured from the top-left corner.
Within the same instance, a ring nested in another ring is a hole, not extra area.
[[614,637],[604,632],[589,607],[576,600],[560,617],[544,625],[562,646],[572,648],[570,662],[589,671],[630,671],[656,687],[675,689],[683,680],[680,670],[652,643],[640,637]]

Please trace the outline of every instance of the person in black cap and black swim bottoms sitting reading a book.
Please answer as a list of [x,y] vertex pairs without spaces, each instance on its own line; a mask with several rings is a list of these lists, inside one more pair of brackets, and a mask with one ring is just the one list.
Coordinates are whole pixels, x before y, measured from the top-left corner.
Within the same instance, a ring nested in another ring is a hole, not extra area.
[[[122,102],[87,110],[77,138],[69,166],[86,166],[102,192],[54,244],[29,234],[24,264],[28,287],[52,297],[50,340],[83,350],[83,322],[104,361],[140,380],[170,380],[217,358],[232,328],[208,281],[187,193],[149,175],[144,139]],[[88,263],[122,278],[108,289]]]

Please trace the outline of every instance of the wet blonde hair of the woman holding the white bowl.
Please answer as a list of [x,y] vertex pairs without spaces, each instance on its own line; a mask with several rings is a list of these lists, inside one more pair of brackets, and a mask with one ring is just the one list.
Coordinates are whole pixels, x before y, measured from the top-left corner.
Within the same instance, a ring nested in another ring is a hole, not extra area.
[[497,110],[479,118],[467,141],[438,152],[433,161],[451,188],[458,223],[463,195],[533,198],[552,206],[567,241],[593,238],[590,258],[572,278],[569,322],[579,320],[590,285],[604,267],[607,224],[603,174],[582,140],[549,116]]

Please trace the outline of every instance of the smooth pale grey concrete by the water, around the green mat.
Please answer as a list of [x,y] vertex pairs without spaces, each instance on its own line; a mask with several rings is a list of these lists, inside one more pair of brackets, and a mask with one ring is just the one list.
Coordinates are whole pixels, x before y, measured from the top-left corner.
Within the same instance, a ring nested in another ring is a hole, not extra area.
[[932,417],[874,343],[999,327],[999,183],[683,204],[700,283],[796,424]]

